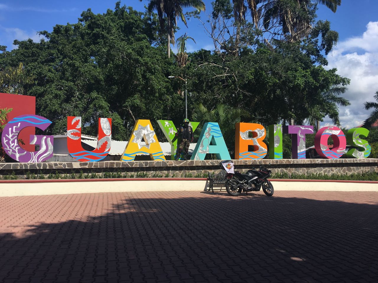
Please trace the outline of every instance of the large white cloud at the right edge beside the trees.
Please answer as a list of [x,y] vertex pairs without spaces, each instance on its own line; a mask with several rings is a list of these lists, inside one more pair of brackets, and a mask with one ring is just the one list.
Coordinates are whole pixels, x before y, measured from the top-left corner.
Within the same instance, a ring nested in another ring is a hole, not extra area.
[[[361,125],[370,114],[363,109],[363,103],[374,101],[378,90],[378,22],[369,22],[366,31],[359,37],[340,42],[328,54],[327,68],[337,68],[337,73],[350,78],[349,90],[343,95],[351,106],[340,108],[341,125],[353,128]],[[327,117],[322,125],[330,122]]]

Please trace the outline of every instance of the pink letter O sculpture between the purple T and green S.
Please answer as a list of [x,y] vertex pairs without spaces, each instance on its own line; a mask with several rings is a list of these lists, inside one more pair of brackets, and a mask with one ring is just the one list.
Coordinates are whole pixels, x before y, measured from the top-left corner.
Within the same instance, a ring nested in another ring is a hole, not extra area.
[[[328,148],[328,138],[333,139],[333,148]],[[338,127],[330,126],[321,128],[315,135],[315,149],[323,158],[337,159],[340,158],[347,146],[347,140],[344,133]]]

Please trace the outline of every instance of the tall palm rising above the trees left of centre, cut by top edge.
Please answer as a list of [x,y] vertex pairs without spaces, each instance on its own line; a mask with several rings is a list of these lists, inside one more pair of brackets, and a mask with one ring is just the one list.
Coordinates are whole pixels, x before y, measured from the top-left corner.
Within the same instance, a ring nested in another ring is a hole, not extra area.
[[[142,1],[142,0],[140,0]],[[183,13],[183,8],[193,7],[197,11],[205,11],[205,3],[202,0],[150,0],[147,6],[149,12],[157,11],[160,22],[160,29],[167,32],[168,43],[167,53],[170,58],[170,43],[175,44],[175,27],[177,26],[177,19],[181,18],[185,26],[186,19]]]

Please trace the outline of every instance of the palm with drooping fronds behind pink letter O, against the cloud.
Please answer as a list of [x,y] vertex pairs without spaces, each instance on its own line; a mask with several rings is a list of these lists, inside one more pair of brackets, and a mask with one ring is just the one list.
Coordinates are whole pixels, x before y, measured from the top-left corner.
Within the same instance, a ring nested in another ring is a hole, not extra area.
[[[333,103],[337,104],[339,106],[349,106],[350,102],[344,97],[340,97],[341,94],[344,94],[348,90],[345,86],[339,86],[339,85],[332,85],[330,88],[322,92],[322,100],[324,103]],[[334,125],[340,127],[340,119],[339,114],[337,111],[327,112],[324,113],[325,115],[328,115],[328,117],[331,118]],[[316,114],[310,114],[310,116],[307,118],[310,125],[316,126],[316,131],[320,128],[320,120],[325,117],[319,117]]]

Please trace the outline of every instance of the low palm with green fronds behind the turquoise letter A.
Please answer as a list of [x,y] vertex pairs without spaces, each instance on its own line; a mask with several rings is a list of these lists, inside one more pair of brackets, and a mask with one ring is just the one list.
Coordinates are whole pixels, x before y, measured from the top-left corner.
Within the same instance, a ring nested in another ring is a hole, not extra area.
[[202,103],[195,105],[192,120],[200,122],[198,131],[201,132],[204,123],[217,122],[222,130],[227,148],[232,153],[235,143],[235,124],[240,122],[242,117],[249,117],[249,113],[241,108],[232,107],[226,104],[218,104],[210,110]]

